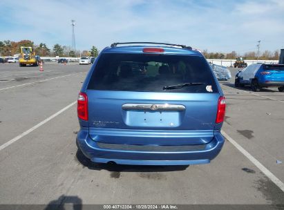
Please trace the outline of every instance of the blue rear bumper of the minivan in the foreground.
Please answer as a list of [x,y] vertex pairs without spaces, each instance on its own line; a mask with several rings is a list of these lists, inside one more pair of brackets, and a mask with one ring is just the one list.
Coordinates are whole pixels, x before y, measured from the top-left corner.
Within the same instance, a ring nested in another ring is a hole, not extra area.
[[[189,146],[184,146],[184,150],[179,149],[174,151],[173,147],[169,151],[159,149],[157,150],[143,149],[138,150],[137,146],[127,146],[128,149],[121,146],[111,146],[106,149],[106,144],[102,148],[102,144],[95,142],[88,135],[88,129],[81,129],[77,134],[77,145],[82,153],[93,162],[107,163],[115,162],[117,164],[135,164],[135,165],[189,165],[189,164],[206,164],[210,160],[216,158],[224,144],[224,137],[220,131],[216,131],[211,142],[203,145],[194,145],[191,149]],[[100,146],[101,147],[100,147]],[[152,146],[155,148],[155,146]],[[132,150],[133,149],[133,150]],[[167,150],[167,149],[166,149]]]

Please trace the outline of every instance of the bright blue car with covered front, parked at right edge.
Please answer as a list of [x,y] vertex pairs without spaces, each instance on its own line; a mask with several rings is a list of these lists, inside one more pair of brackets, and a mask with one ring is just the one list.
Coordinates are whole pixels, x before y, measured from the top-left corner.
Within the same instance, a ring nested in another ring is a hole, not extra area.
[[255,92],[261,88],[277,87],[284,90],[284,64],[252,64],[238,71],[235,86],[251,86]]

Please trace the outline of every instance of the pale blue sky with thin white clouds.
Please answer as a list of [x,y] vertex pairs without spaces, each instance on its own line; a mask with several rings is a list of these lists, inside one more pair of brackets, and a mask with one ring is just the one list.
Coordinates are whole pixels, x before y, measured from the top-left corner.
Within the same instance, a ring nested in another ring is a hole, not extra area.
[[283,0],[0,1],[0,41],[102,50],[113,42],[157,41],[209,52],[284,48]]

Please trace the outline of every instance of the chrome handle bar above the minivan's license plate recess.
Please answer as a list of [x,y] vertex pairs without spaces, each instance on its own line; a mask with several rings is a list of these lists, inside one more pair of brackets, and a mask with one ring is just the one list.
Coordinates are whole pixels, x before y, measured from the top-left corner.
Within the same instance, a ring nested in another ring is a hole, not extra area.
[[143,111],[184,111],[185,106],[180,104],[123,104],[122,109]]

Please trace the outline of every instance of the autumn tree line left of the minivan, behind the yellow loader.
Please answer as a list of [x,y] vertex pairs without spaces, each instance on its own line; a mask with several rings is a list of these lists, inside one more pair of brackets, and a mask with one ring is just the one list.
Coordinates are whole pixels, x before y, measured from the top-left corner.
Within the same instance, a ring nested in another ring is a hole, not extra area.
[[32,47],[35,50],[35,54],[41,57],[46,56],[59,56],[59,57],[80,57],[80,56],[91,56],[97,57],[99,50],[95,46],[92,46],[91,50],[73,50],[70,46],[62,46],[55,44],[52,49],[48,48],[46,44],[40,43],[39,45],[34,44],[30,40],[21,41],[0,41],[0,56],[13,56],[20,53],[21,46]]

